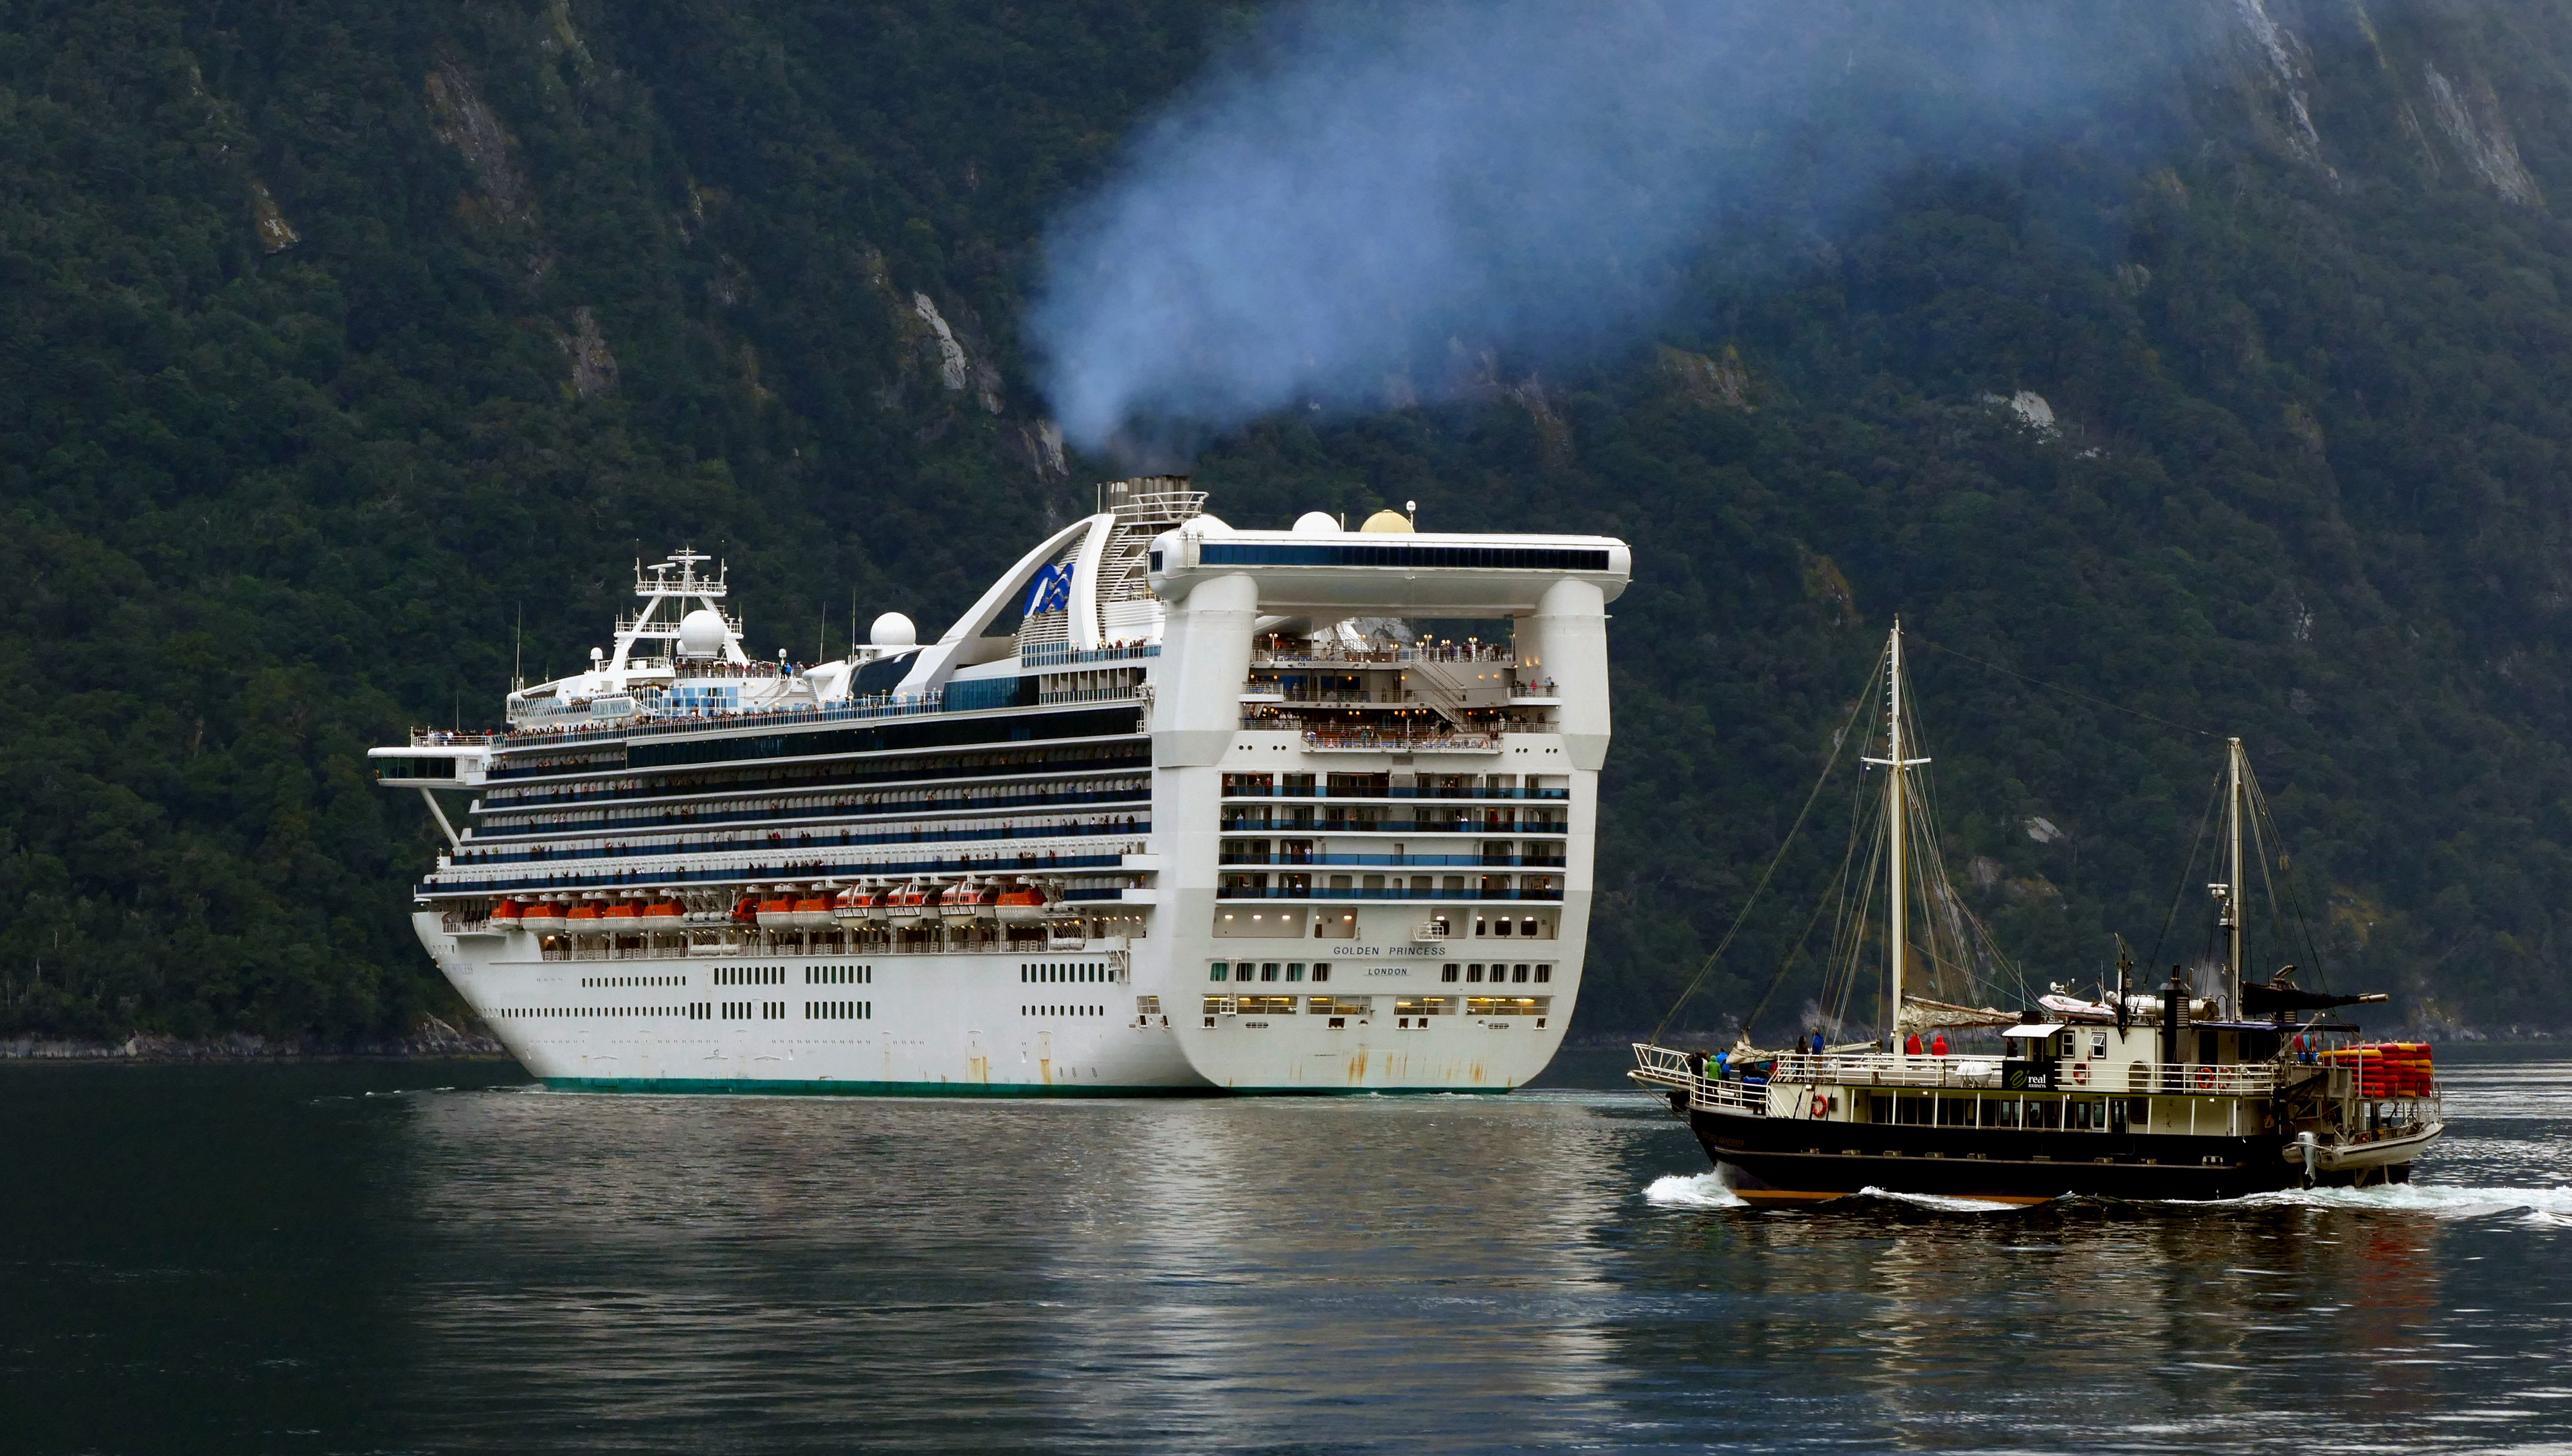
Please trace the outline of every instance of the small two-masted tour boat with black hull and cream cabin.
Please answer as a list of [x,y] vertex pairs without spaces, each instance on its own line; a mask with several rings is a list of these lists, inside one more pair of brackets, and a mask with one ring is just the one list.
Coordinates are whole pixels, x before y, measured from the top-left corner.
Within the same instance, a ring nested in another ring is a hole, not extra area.
[[[1880,674],[1885,749],[1865,764],[1883,769],[1883,924],[1860,908],[1839,944],[1852,960],[1880,949],[1890,1039],[1713,1055],[1636,1044],[1628,1073],[1669,1096],[1739,1196],[2232,1199],[2410,1178],[2446,1127],[2431,1047],[2359,1042],[2335,1016],[2384,996],[2307,990],[2292,965],[2248,978],[2250,875],[2279,841],[2240,738],[2225,751],[2225,877],[2209,885],[2222,957],[2202,967],[2209,988],[2184,967],[2137,988],[2119,954],[2114,988],[2083,998],[2052,985],[2016,1014],[1947,985],[1952,998],[1919,993],[1924,972],[1952,975],[1991,947],[1947,885],[1926,821],[1901,625]],[[2001,1047],[1944,1052],[1944,1032],[1965,1029],[1998,1032]]]

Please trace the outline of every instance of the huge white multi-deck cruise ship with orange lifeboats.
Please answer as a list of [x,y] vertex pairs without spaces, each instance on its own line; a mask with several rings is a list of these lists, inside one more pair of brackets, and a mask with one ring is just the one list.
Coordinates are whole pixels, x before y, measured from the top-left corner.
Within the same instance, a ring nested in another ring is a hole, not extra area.
[[553,1088],[1525,1083],[1631,551],[1204,504],[1106,484],[936,641],[887,612],[828,664],[746,653],[707,556],[638,563],[586,671],[370,751],[448,841],[419,942]]

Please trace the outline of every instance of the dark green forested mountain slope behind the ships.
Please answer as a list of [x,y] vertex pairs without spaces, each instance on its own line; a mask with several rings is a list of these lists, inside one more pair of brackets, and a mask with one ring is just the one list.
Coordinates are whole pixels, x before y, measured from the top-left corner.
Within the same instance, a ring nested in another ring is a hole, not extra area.
[[[1893,612],[2032,980],[2155,942],[2217,769],[2178,723],[2250,741],[2335,983],[2572,1021],[2572,18],[2191,15],[2184,75],[2060,144],[1731,219],[1638,347],[1196,460],[1245,525],[1636,540],[1587,1026],[1698,970]],[[0,1029],[399,1032],[448,1006],[432,833],[363,749],[489,720],[520,612],[563,669],[689,540],[810,656],[1088,509],[1116,466],[1060,458],[1019,340],[1037,239],[1245,26],[0,0]],[[1759,1001],[1847,803],[1695,1021]]]

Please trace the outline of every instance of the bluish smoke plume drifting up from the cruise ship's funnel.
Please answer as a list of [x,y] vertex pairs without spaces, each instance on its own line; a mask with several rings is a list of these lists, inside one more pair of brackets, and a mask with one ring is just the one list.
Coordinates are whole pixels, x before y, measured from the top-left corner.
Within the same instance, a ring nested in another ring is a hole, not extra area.
[[1057,219],[1031,316],[1083,448],[1453,391],[1631,340],[1723,219],[1818,229],[1888,172],[2073,123],[2114,5],[1289,8]]

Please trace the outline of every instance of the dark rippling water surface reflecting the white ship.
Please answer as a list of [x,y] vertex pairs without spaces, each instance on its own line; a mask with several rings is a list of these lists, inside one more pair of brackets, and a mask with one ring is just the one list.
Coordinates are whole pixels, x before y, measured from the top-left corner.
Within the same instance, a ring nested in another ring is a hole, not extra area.
[[1577,1086],[15,1065],[0,1446],[2572,1451],[2572,1062],[2443,1075],[2410,1188],[1752,1212]]

